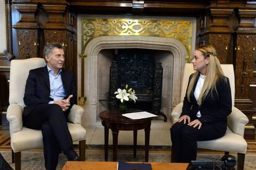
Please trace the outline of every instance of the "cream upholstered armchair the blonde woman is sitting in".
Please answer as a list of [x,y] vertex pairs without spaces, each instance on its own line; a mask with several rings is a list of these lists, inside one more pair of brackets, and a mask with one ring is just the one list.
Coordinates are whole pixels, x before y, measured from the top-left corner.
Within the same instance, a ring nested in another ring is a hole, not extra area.
[[[234,69],[232,64],[221,64],[224,74],[229,78],[232,95],[232,113],[228,116],[228,129],[226,134],[215,140],[198,141],[197,147],[208,150],[224,151],[225,155],[229,152],[237,153],[237,169],[244,169],[244,158],[247,150],[247,142],[244,140],[244,127],[249,122],[249,119],[239,109],[234,107]],[[186,95],[189,76],[194,72],[193,65],[187,63],[184,69],[184,75],[181,87],[181,103],[173,109],[171,116],[173,123],[177,122],[182,111],[182,101]],[[173,150],[172,150],[173,153]],[[173,157],[173,156],[172,156]],[[173,159],[172,159],[173,160]]]

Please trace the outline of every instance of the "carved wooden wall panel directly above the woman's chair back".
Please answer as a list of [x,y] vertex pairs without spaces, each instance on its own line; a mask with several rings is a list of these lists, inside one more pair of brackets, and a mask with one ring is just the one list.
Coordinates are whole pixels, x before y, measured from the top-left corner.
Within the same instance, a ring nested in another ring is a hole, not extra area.
[[208,35],[208,44],[215,47],[218,59],[221,64],[226,64],[228,58],[228,48],[230,43],[229,34],[210,34]]

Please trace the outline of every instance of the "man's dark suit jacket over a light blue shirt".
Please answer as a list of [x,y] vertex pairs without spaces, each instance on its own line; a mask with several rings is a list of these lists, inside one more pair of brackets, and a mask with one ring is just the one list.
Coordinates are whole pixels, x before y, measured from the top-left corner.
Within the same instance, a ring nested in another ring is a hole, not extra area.
[[[73,97],[70,99],[70,109],[72,108],[73,104],[75,104],[77,98],[75,77],[74,74],[68,70],[62,69],[61,79],[67,95],[66,98],[69,95],[73,95]],[[23,116],[27,116],[29,113],[31,113],[38,104],[46,104],[49,103],[49,101],[53,101],[49,95],[50,85],[47,66],[30,70],[23,98],[26,105],[23,110]],[[67,112],[69,112],[69,109]]]

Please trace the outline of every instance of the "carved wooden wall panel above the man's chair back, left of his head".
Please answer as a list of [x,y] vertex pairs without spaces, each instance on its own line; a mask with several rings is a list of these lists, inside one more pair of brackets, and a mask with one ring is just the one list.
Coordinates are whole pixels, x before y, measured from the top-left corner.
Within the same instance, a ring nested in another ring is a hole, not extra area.
[[20,59],[38,57],[38,30],[17,29]]

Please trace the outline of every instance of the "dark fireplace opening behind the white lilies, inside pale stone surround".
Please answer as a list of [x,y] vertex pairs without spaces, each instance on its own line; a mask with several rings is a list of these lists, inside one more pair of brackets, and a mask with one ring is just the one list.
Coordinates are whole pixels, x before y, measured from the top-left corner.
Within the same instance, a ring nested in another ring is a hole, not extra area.
[[154,58],[151,49],[115,49],[109,74],[109,109],[116,109],[120,101],[114,91],[126,85],[135,90],[138,97],[127,102],[130,109],[140,109],[167,117],[161,112],[163,67]]

